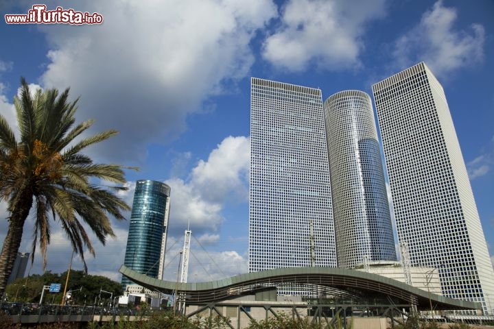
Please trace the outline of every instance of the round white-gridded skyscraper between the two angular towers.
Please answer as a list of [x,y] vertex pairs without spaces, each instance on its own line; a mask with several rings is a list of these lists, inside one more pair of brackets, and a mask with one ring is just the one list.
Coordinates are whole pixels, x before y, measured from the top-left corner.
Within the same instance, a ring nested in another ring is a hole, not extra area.
[[397,260],[371,97],[345,90],[324,112],[338,267]]

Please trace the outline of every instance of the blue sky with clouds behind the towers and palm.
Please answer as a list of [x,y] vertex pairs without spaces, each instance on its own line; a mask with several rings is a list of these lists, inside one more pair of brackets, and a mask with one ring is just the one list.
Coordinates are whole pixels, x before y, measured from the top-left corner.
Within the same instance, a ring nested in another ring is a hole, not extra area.
[[[3,1],[4,14],[38,2]],[[33,88],[71,87],[78,119],[120,134],[88,152],[138,166],[135,180],[172,188],[166,277],[175,280],[183,231],[193,239],[189,281],[247,271],[250,77],[371,94],[371,84],[424,61],[443,84],[473,193],[494,254],[494,3],[475,1],[45,1],[97,12],[102,25],[0,23],[0,112],[15,125],[21,76]],[[5,203],[0,204],[5,218]],[[32,222],[21,251],[29,252]],[[128,221],[86,256],[119,280]],[[7,222],[0,222],[3,241]],[[70,247],[53,224],[47,269],[65,271]],[[491,256],[492,259],[492,256]],[[42,273],[36,256],[31,273]],[[73,268],[82,269],[78,258]]]

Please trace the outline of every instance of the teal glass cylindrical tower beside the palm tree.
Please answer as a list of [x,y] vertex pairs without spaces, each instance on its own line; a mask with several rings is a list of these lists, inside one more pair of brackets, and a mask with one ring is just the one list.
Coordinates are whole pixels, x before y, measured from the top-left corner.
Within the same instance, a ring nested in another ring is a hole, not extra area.
[[[124,265],[163,279],[170,188],[153,180],[138,180],[132,202]],[[132,284],[123,277],[122,285]]]

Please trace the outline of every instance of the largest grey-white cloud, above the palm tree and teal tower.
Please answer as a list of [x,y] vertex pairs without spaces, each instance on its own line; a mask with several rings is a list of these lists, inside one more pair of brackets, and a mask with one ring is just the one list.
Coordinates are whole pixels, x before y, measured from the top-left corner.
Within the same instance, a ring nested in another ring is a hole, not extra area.
[[[49,1],[47,7],[59,3]],[[145,143],[164,143],[189,114],[248,75],[250,42],[277,15],[270,0],[73,1],[102,25],[39,26],[51,50],[40,82],[81,95],[81,119],[121,132],[98,149],[112,160],[145,158]],[[126,147],[120,147],[126,145]]]

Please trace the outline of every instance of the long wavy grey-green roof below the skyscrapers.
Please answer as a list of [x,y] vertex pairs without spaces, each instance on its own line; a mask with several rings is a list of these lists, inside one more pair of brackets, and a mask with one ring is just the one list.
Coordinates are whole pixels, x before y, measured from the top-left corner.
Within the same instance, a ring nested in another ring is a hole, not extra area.
[[311,289],[342,299],[366,300],[375,297],[393,297],[402,304],[414,304],[419,310],[434,309],[466,310],[480,309],[480,303],[455,300],[428,293],[403,282],[378,276],[374,273],[340,269],[334,267],[288,267],[271,269],[224,278],[210,282],[180,283],[158,280],[137,273],[122,265],[119,269],[124,276],[153,291],[173,294],[185,293],[187,301],[193,303],[220,302],[239,295],[277,289],[294,291]]

